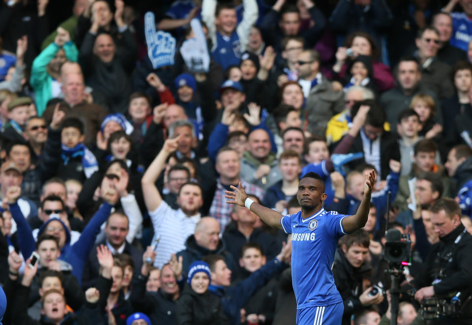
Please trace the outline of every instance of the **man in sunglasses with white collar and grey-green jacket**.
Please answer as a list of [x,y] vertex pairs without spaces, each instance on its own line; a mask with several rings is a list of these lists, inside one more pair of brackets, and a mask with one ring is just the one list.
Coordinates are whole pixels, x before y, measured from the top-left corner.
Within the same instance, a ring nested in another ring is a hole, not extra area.
[[344,109],[344,93],[334,91],[331,82],[321,74],[320,54],[315,50],[301,52],[295,69],[306,98],[307,131],[324,135],[329,119]]

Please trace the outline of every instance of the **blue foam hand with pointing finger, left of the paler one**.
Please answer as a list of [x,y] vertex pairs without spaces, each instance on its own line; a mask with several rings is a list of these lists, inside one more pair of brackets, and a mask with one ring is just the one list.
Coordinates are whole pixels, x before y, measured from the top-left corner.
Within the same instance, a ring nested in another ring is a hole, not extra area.
[[148,45],[148,57],[154,69],[173,65],[176,55],[176,39],[168,32],[156,31],[154,14],[150,11],[144,16],[144,33]]

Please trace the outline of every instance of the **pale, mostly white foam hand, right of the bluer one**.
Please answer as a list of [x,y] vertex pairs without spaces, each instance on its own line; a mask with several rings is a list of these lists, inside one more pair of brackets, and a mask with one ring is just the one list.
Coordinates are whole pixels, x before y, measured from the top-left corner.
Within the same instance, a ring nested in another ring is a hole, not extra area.
[[190,21],[194,37],[187,39],[180,47],[185,64],[190,72],[205,73],[210,66],[210,55],[208,53],[207,39],[202,24],[197,18]]

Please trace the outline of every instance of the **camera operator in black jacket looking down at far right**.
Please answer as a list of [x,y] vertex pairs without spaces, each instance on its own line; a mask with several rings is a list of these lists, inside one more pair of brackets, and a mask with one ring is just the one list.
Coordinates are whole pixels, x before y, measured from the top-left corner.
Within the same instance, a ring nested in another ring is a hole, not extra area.
[[453,199],[439,199],[429,210],[440,241],[431,246],[420,276],[413,280],[418,289],[414,298],[424,303],[425,298],[434,296],[449,304],[458,296],[460,316],[442,315],[432,324],[472,324],[472,236],[462,225],[461,209]]

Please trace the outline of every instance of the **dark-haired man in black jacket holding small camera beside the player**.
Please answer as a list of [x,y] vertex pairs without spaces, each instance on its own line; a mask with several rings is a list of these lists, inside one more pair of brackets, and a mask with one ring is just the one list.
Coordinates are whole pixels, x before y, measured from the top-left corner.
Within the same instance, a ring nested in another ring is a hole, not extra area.
[[343,298],[344,314],[342,325],[351,324],[354,312],[379,304],[382,293],[369,295],[372,288],[363,290],[363,282],[369,279],[371,266],[365,261],[369,252],[369,235],[356,230],[341,239],[342,246],[336,251],[333,265],[334,283]]

